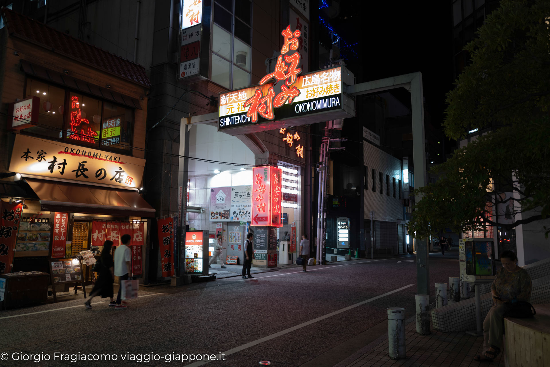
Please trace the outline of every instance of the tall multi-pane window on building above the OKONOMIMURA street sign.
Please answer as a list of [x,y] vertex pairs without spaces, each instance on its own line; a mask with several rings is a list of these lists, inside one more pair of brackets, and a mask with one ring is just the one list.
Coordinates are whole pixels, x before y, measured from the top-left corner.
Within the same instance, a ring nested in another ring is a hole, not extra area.
[[211,79],[227,89],[250,85],[251,15],[250,0],[214,3]]

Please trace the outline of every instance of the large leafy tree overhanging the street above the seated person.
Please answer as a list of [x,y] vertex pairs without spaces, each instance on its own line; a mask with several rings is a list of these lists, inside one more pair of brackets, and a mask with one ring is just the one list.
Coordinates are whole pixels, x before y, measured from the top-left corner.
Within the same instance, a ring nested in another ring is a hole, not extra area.
[[513,219],[499,226],[550,214],[549,17],[550,0],[502,0],[464,48],[471,64],[447,94],[444,132],[456,140],[475,128],[491,132],[432,168],[441,179],[415,190],[422,200],[411,234],[423,238],[449,227],[464,232],[496,225],[492,210],[508,202],[502,193],[512,188],[519,194],[511,198]]

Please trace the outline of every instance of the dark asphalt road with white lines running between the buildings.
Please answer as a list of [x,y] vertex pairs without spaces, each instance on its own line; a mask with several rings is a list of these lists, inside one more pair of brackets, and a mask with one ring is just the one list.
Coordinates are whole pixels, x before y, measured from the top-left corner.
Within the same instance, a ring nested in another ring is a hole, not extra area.
[[[4,311],[0,357],[6,352],[9,359],[0,365],[245,367],[270,360],[272,366],[332,367],[384,332],[386,308],[404,307],[414,314],[416,264],[398,262],[414,259],[355,260],[311,266],[306,273],[294,268],[251,280],[145,288],[125,310],[96,298],[92,310],[71,300]],[[458,260],[432,255],[430,282],[446,282],[449,276],[458,276]],[[118,359],[71,363],[53,360],[56,352],[108,353]],[[44,353],[51,359],[14,361],[13,353]],[[225,360],[207,364],[128,361],[135,354],[218,353],[225,353]]]

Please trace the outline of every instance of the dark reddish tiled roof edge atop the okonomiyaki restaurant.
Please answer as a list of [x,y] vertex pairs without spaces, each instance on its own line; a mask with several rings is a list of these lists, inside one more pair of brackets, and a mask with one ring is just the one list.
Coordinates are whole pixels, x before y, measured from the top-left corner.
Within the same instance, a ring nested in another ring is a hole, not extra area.
[[53,52],[122,76],[134,83],[146,87],[151,86],[149,78],[145,74],[145,68],[139,64],[90,45],[8,8],[2,9],[2,15],[9,35],[39,43]]

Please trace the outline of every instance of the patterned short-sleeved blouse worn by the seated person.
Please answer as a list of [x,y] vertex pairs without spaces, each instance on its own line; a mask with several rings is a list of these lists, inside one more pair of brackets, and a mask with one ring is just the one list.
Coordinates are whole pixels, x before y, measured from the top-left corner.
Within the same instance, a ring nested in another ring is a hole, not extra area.
[[505,302],[510,302],[513,299],[529,301],[529,297],[531,297],[531,277],[521,267],[519,271],[515,272],[500,268],[491,284],[491,290],[496,291],[497,296]]

